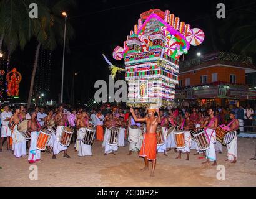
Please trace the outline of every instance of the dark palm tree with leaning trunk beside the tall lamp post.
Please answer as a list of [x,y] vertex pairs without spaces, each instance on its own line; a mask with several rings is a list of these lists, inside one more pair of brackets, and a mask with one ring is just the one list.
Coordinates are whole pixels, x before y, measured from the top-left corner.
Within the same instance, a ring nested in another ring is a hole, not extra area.
[[[44,0],[41,0],[44,1]],[[45,1],[47,2],[47,1]],[[66,6],[74,5],[72,0],[52,0],[49,4],[45,6],[49,7],[50,17],[39,16],[37,25],[35,26],[35,35],[37,39],[36,56],[34,60],[34,67],[31,76],[31,85],[29,89],[29,97],[27,99],[27,108],[30,107],[32,91],[34,88],[34,78],[36,76],[36,69],[39,57],[39,50],[43,49],[54,50],[57,43],[62,44],[64,38],[64,20],[60,17],[60,14],[65,9]],[[67,22],[66,31],[66,44],[69,44],[69,40],[74,36],[74,29],[71,24]]]

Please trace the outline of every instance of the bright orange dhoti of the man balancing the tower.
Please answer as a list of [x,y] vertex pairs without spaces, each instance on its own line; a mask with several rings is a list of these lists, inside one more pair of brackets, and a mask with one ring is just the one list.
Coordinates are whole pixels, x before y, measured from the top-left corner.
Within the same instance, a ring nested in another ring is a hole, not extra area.
[[147,157],[148,160],[157,159],[157,134],[144,134],[144,140],[140,149],[140,157]]

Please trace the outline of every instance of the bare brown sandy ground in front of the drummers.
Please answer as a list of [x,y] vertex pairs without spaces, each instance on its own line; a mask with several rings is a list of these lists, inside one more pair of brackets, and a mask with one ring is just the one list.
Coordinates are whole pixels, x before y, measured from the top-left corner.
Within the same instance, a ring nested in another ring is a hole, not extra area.
[[[141,172],[143,159],[136,153],[127,155],[129,147],[119,147],[116,155],[104,156],[102,142],[95,141],[92,157],[79,157],[73,145],[69,146],[71,159],[42,152],[42,161],[37,162],[38,180],[29,180],[27,156],[16,159],[11,152],[0,152],[0,186],[256,186],[256,161],[249,160],[255,153],[255,139],[239,138],[238,162],[225,162],[224,153],[217,154],[217,163],[225,166],[225,180],[217,180],[219,170],[211,165],[201,164],[205,159],[197,159],[191,150],[190,161],[175,160],[174,150],[165,157],[157,155],[155,177],[150,172]],[[201,155],[200,155],[201,156]]]

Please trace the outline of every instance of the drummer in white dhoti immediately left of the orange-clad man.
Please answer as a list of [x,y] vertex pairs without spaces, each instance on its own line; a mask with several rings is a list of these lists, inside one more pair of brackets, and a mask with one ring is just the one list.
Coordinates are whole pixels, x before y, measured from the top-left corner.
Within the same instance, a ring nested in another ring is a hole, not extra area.
[[[140,115],[139,115],[139,111],[138,109],[134,109],[134,114],[137,118],[140,118]],[[140,129],[140,123],[136,123],[134,121],[134,118],[132,116],[129,117],[129,122],[128,122],[128,126],[127,126],[127,130],[128,130],[128,137],[129,137],[129,131],[130,131],[130,126],[132,125],[135,125],[135,126],[138,126],[139,129]],[[140,134],[140,133],[139,133]],[[138,138],[138,139],[137,139]],[[140,148],[142,146],[142,137],[139,135],[139,137],[137,137],[136,140],[138,140],[138,142],[134,143],[134,142],[130,142],[129,144],[129,154],[128,155],[131,155],[132,152],[137,152],[139,154],[140,152]]]

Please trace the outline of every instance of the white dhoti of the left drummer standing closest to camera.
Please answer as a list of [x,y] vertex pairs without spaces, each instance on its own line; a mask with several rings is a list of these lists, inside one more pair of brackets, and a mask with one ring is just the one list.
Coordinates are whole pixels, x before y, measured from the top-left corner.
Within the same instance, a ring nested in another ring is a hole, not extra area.
[[29,162],[36,162],[41,159],[41,150],[36,149],[36,142],[39,132],[31,132],[31,140],[29,147]]

